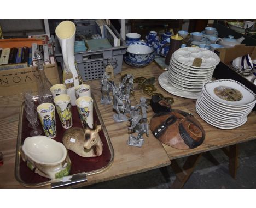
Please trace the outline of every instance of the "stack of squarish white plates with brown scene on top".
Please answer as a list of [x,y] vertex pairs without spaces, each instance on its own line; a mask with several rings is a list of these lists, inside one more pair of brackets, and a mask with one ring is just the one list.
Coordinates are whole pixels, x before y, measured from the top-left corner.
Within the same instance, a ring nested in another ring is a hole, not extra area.
[[196,111],[208,124],[220,129],[234,129],[246,123],[256,103],[256,95],[232,79],[203,84]]

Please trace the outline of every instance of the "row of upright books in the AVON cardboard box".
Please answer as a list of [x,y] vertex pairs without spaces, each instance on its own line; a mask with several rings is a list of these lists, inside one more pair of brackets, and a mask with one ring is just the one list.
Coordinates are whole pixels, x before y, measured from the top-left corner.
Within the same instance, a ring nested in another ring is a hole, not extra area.
[[0,48],[0,65],[27,63],[27,66],[36,66],[34,52],[38,49],[42,53],[42,60],[45,64],[54,64],[54,51],[51,42],[38,45],[32,43],[30,47]]

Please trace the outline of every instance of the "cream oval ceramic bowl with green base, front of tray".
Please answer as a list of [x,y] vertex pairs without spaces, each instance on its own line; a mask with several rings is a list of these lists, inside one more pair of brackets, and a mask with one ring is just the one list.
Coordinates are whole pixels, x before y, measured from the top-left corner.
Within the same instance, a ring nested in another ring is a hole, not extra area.
[[19,153],[28,168],[46,178],[62,178],[70,172],[67,149],[62,143],[46,136],[27,137]]

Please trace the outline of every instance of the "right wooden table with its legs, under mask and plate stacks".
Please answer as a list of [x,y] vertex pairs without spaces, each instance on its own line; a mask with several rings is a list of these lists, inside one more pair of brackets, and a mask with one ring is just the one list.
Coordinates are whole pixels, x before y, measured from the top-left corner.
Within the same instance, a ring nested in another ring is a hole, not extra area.
[[[150,70],[148,70],[150,69]],[[149,77],[159,77],[159,75],[164,72],[160,70],[155,64],[151,64],[149,68],[139,69],[139,72],[133,73],[136,76]],[[172,184],[172,188],[182,188],[185,182],[189,179],[191,173],[193,173],[196,162],[199,161],[203,152],[207,152],[208,158],[213,163],[217,163],[216,160],[212,157],[209,151],[215,149],[222,149],[224,153],[229,157],[229,171],[233,178],[236,178],[236,170],[238,165],[238,143],[247,142],[249,140],[256,139],[256,112],[251,112],[248,116],[246,124],[231,130],[222,130],[218,129],[210,124],[206,123],[201,117],[197,114],[195,109],[196,99],[184,99],[175,95],[171,95],[167,91],[161,88],[156,79],[155,83],[158,93],[161,93],[165,97],[173,97],[174,104],[172,105],[173,109],[180,109],[182,111],[192,113],[196,119],[202,124],[203,129],[205,130],[206,137],[205,141],[199,147],[189,150],[180,150],[172,148],[171,146],[162,144],[170,157],[171,167],[176,173],[176,180]],[[139,101],[141,97],[140,92],[135,93],[135,99]],[[149,108],[148,118],[152,118],[154,112]],[[150,120],[149,120],[150,121]],[[229,149],[226,147],[229,146]],[[187,161],[184,163],[183,167],[179,167],[175,159],[186,157]]]

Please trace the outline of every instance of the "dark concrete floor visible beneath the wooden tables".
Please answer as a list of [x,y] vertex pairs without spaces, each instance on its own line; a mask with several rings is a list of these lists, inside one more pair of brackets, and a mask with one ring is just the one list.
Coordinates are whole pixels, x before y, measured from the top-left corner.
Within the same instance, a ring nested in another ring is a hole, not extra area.
[[[215,166],[206,157],[201,157],[184,188],[256,188],[256,140],[239,145],[237,179],[231,178],[228,157],[222,150],[211,151],[220,163]],[[180,164],[184,158],[178,160]],[[174,173],[167,167],[171,182]],[[85,188],[168,188],[160,169],[102,182]]]

